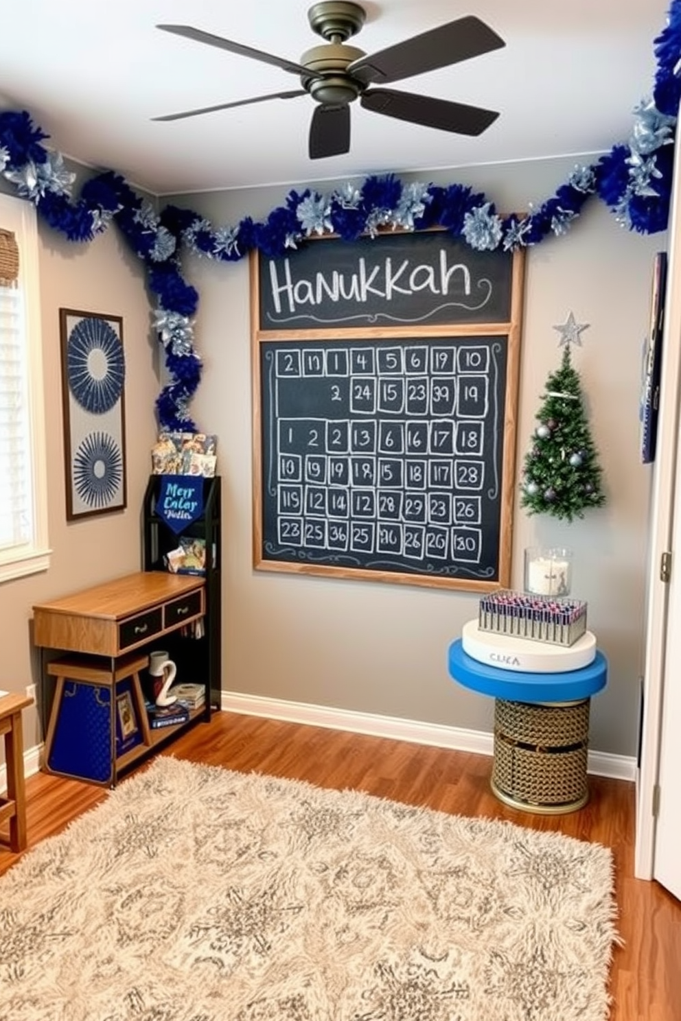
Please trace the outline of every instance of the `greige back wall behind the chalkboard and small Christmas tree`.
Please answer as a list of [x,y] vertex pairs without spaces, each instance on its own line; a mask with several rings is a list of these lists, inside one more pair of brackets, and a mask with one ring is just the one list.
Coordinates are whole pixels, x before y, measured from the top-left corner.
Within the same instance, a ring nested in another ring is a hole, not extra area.
[[[524,209],[548,197],[572,165],[479,167],[437,180],[468,179],[494,196],[498,208]],[[175,201],[216,226],[247,213],[261,217],[285,194],[262,189]],[[626,756],[636,751],[650,482],[638,451],[641,346],[652,255],[665,240],[623,230],[594,201],[569,237],[529,251],[526,275],[518,463],[546,376],[560,361],[552,327],[573,310],[590,324],[574,364],[609,501],[573,525],[517,509],[513,584],[522,587],[525,546],[575,550],[574,594],[588,600],[589,626],[611,664],[607,688],[593,703],[591,746]],[[186,270],[201,295],[197,344],[205,361],[193,410],[202,428],[218,435],[224,477],[224,689],[491,730],[491,699],[452,683],[446,666],[449,643],[477,614],[475,595],[253,571],[248,266],[190,257]]]

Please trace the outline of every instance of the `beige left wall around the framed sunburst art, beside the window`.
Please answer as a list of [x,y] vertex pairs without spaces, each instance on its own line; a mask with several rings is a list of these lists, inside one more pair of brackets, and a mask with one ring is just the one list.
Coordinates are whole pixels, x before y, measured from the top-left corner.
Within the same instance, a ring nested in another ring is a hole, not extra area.
[[[45,420],[49,493],[49,571],[0,585],[0,688],[23,691],[38,680],[32,607],[140,567],[140,503],[149,473],[158,384],[144,276],[115,231],[71,244],[40,226]],[[59,356],[59,308],[121,315],[126,351],[128,508],[66,522]],[[35,710],[25,713],[25,744],[42,739]]]

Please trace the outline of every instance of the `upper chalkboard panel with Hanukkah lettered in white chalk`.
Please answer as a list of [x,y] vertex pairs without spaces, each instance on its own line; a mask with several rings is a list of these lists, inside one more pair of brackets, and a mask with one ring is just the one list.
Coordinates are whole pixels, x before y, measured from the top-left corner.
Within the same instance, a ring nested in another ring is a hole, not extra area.
[[506,323],[513,256],[445,231],[308,243],[259,258],[261,330]]

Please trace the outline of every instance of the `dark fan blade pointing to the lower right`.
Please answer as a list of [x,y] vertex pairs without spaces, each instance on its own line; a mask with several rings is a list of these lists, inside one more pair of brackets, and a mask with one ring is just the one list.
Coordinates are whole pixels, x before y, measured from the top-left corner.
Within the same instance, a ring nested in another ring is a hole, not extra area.
[[426,128],[439,128],[456,135],[481,135],[499,115],[497,111],[485,110],[481,106],[467,106],[465,103],[393,89],[370,89],[360,96],[359,102],[374,113],[409,120]]

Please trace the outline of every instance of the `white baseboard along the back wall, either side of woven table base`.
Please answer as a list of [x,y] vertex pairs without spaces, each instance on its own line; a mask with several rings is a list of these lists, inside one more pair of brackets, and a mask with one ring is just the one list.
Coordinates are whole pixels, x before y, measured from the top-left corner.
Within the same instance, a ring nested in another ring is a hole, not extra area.
[[[454,751],[491,756],[494,750],[494,738],[488,731],[446,727],[438,723],[422,723],[419,720],[401,720],[373,713],[354,713],[308,702],[246,695],[239,691],[223,691],[222,708],[229,713],[263,716],[272,720],[284,720],[287,723],[329,727],[331,730],[348,730],[373,737],[393,737],[400,741],[432,744],[438,748],[451,748]],[[587,769],[594,776],[633,782],[636,759],[633,756],[616,756],[609,751],[589,751]]]

